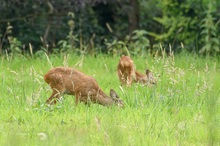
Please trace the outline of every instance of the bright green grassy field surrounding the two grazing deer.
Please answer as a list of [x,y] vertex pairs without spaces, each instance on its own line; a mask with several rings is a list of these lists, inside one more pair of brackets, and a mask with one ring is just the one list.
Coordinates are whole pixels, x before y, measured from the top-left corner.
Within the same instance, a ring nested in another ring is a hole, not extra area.
[[[119,56],[43,55],[1,57],[0,145],[220,145],[220,61],[193,54],[133,57],[137,70],[149,68],[156,86],[120,87]],[[44,105],[51,94],[43,75],[70,66],[113,88],[125,108],[75,106],[65,96]]]

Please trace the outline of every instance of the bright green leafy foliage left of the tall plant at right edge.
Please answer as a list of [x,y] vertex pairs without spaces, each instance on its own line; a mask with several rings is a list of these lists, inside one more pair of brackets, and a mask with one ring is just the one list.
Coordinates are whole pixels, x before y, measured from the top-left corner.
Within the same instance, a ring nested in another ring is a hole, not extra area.
[[170,44],[174,50],[180,48],[180,43],[184,43],[189,49],[196,46],[196,36],[199,28],[199,9],[200,2],[165,0],[159,3],[162,9],[162,16],[155,17],[154,20],[162,25],[160,33],[150,33],[156,40],[162,44]]

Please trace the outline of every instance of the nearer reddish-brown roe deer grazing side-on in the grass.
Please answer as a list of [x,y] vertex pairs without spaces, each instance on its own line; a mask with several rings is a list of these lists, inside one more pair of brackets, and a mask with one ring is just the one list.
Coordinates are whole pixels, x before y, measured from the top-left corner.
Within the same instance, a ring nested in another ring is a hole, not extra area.
[[79,101],[88,103],[94,102],[103,106],[118,105],[124,107],[124,103],[119,99],[113,89],[110,89],[110,97],[99,87],[93,77],[70,67],[56,67],[44,75],[44,80],[50,85],[53,92],[47,99],[47,104],[56,104],[63,94],[75,96],[75,104]]

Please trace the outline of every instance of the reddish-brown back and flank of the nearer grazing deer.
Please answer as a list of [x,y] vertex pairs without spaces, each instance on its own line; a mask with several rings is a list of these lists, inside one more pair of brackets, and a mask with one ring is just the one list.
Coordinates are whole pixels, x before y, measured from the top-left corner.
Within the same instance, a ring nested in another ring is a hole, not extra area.
[[52,88],[65,91],[65,93],[69,94],[74,94],[76,92],[87,93],[99,89],[99,86],[93,77],[87,76],[82,72],[69,67],[57,67],[51,69],[44,76],[44,80]]

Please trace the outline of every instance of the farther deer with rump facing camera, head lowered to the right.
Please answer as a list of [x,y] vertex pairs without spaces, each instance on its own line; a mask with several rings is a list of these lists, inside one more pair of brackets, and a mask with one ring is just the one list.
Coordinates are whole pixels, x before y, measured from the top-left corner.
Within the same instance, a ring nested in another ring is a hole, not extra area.
[[130,86],[133,82],[145,85],[156,84],[156,80],[150,70],[142,74],[135,70],[133,60],[129,56],[122,56],[117,66],[117,73],[122,85]]

